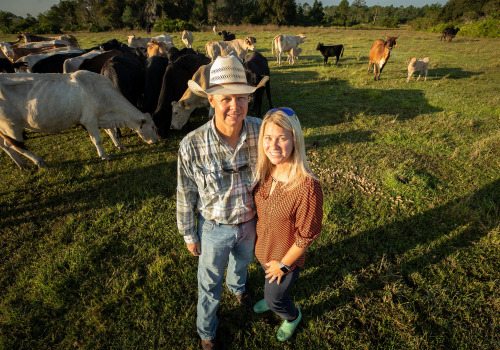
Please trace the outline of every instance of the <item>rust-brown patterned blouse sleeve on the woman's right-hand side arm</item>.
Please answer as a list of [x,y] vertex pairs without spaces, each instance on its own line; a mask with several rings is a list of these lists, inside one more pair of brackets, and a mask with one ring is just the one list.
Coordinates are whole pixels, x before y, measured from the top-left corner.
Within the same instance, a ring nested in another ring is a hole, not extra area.
[[317,180],[303,185],[295,220],[295,245],[307,248],[318,238],[323,221],[323,191]]

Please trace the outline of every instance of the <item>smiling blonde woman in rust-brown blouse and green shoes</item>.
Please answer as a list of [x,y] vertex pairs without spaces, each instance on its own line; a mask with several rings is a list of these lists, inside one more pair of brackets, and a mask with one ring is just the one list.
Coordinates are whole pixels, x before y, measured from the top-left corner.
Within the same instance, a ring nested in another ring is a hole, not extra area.
[[285,341],[302,318],[288,294],[304,266],[307,247],[321,232],[323,193],[307,164],[302,129],[291,109],[266,113],[258,149],[255,255],[265,270],[266,283],[264,299],[253,309],[279,315],[284,322],[276,337]]

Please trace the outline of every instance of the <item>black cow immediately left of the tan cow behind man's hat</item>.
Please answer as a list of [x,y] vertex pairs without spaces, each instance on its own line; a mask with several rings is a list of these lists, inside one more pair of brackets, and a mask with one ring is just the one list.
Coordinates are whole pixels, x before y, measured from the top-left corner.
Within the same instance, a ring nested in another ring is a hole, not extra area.
[[163,75],[163,81],[158,98],[158,106],[153,114],[153,120],[160,137],[167,137],[172,122],[172,101],[179,101],[186,89],[187,82],[193,74],[210,63],[210,58],[203,54],[184,55],[170,62]]

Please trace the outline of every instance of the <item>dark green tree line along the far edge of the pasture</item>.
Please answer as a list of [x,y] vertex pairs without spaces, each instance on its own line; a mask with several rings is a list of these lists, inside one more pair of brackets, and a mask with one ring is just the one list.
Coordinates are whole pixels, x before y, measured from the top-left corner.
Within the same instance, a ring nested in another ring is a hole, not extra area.
[[423,7],[367,6],[365,0],[321,1],[297,4],[295,0],[61,0],[37,17],[0,11],[4,33],[61,33],[88,29],[196,30],[224,24],[277,24],[297,26],[378,26],[409,24],[429,29],[439,23],[466,23],[500,18],[500,0],[450,0]]

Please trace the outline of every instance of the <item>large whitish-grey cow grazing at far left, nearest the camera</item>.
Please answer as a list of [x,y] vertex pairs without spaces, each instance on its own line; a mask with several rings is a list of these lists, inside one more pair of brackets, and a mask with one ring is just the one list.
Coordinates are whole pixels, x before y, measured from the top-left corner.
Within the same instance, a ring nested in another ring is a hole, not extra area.
[[151,117],[131,105],[108,78],[92,72],[2,74],[0,95],[0,148],[21,169],[28,167],[21,154],[39,168],[47,167],[25,147],[24,128],[57,133],[81,124],[104,160],[110,158],[101,146],[99,128],[128,126],[148,144],[158,140]]

